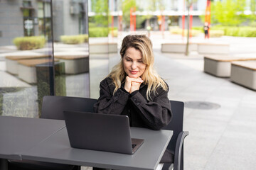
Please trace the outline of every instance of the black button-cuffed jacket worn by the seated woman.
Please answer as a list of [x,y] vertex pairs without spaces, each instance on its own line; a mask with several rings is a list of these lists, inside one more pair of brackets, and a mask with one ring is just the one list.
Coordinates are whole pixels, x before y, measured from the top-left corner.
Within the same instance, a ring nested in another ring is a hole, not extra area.
[[[147,86],[142,84],[139,91],[129,94],[121,88],[114,92],[114,83],[110,77],[100,82],[100,98],[95,103],[96,113],[128,115],[131,127],[161,130],[171,121],[171,105],[167,97],[168,91],[158,88],[146,99]],[[161,162],[172,162],[172,154],[166,150]]]

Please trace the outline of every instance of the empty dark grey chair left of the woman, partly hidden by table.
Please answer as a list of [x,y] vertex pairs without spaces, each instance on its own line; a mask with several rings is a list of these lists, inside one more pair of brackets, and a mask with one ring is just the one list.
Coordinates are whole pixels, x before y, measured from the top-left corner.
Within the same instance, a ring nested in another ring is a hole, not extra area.
[[[93,111],[96,99],[78,98],[68,96],[44,96],[40,118],[64,120],[63,111]],[[68,164],[55,164],[49,162],[36,162],[28,160],[9,160],[9,170],[80,170],[80,166]]]

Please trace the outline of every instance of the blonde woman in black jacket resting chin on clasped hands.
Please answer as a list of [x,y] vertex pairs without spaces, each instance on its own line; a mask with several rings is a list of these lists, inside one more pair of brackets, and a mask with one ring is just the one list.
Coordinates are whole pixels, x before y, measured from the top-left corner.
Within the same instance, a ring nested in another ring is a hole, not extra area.
[[[169,87],[153,68],[151,40],[146,35],[127,35],[121,61],[100,83],[97,113],[128,115],[131,127],[161,130],[171,120]],[[167,151],[161,162],[171,162]]]

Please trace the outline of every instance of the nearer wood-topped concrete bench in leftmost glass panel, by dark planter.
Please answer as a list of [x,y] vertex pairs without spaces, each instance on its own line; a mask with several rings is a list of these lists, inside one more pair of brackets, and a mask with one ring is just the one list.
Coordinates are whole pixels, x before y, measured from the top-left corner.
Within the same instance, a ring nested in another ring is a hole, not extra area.
[[[56,62],[58,60],[55,60]],[[48,59],[18,60],[18,78],[28,84],[36,83],[36,65],[51,62]]]

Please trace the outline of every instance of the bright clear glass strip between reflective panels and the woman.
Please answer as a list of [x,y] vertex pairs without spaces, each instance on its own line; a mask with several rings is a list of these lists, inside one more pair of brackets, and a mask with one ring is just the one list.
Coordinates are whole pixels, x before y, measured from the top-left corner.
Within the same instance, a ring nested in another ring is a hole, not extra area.
[[90,97],[98,98],[100,81],[112,69],[117,56],[117,27],[114,26],[113,1],[89,1]]

